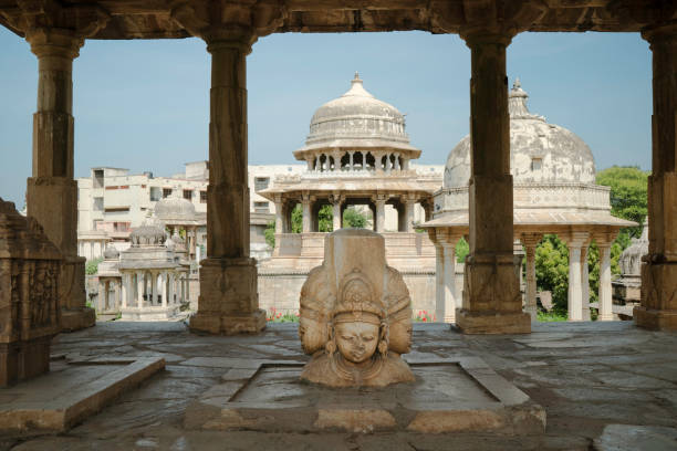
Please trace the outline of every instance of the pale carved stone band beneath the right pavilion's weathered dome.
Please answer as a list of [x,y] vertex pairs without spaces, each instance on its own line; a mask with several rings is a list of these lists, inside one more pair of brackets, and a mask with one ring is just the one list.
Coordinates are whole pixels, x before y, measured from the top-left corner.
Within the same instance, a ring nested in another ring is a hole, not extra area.
[[[515,209],[610,211],[610,188],[587,183],[515,183]],[[468,187],[435,192],[435,214],[468,209]]]

